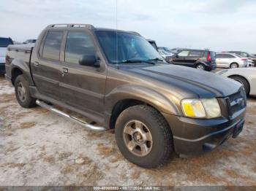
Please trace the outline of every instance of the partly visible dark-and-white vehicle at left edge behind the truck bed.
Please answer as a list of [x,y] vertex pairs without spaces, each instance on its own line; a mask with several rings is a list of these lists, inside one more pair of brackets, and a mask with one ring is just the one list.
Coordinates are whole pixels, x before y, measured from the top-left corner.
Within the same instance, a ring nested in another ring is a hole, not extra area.
[[8,45],[13,44],[12,39],[0,37],[0,74],[5,73],[5,54]]

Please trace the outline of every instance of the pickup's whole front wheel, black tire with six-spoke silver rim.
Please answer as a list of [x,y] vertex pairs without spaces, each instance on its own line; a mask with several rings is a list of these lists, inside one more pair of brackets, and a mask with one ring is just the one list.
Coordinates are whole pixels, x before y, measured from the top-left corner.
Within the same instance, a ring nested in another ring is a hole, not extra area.
[[143,168],[157,168],[173,154],[170,127],[151,106],[125,109],[116,120],[116,142],[124,157]]

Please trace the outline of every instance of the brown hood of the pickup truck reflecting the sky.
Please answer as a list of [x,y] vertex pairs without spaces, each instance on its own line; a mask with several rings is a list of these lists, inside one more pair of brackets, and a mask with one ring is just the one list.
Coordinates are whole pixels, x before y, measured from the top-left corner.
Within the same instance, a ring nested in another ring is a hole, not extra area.
[[186,66],[167,64],[130,70],[132,73],[163,82],[170,88],[176,87],[184,92],[193,93],[199,98],[225,97],[236,93],[241,88],[241,85],[232,79]]

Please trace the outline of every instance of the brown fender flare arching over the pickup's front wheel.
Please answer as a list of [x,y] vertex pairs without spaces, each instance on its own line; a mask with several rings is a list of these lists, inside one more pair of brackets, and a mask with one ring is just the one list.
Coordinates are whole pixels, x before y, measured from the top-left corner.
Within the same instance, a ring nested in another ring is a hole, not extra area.
[[178,99],[175,103],[171,98],[167,98],[155,90],[140,85],[123,85],[116,87],[105,95],[106,112],[111,114],[118,101],[127,99],[142,101],[153,106],[159,112],[181,115],[181,110],[177,106],[177,104],[179,105]]

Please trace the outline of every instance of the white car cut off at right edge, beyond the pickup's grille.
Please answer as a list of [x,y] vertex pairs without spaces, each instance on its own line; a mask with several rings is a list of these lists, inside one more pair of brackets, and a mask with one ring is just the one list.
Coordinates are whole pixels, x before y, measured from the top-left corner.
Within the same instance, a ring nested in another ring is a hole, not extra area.
[[247,95],[256,96],[256,68],[227,69],[217,71],[216,74],[240,82],[244,85]]

